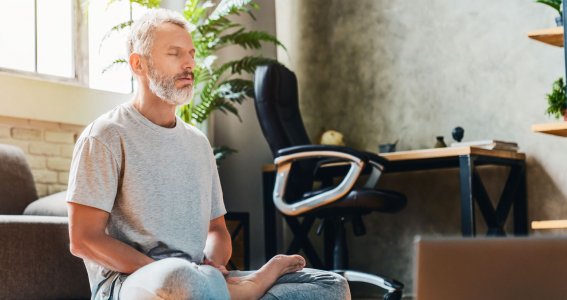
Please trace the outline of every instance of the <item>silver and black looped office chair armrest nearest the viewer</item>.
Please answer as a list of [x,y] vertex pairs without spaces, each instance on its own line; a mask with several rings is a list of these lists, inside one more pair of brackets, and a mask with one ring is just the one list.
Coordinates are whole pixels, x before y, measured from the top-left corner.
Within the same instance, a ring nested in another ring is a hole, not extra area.
[[[350,168],[341,183],[333,189],[302,199],[296,203],[286,203],[284,201],[284,192],[291,165],[294,161],[310,158],[338,158],[347,161],[350,164]],[[282,149],[274,160],[277,169],[273,192],[274,205],[283,214],[296,216],[337,201],[352,189],[364,169],[366,160],[366,157],[361,152],[347,147],[306,145]]]

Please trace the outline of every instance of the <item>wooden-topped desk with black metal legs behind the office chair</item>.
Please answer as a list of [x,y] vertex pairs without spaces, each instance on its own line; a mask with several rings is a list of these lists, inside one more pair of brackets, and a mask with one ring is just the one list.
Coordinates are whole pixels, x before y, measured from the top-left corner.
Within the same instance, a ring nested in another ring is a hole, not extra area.
[[[380,155],[388,160],[384,170],[386,173],[459,168],[461,232],[463,236],[472,237],[476,235],[475,202],[488,227],[488,235],[506,234],[504,224],[512,208],[514,234],[527,235],[526,156],[524,153],[486,150],[475,147],[448,147],[400,151]],[[477,172],[476,167],[481,165],[510,167],[508,178],[496,207],[492,205],[482,179]],[[263,176],[266,256],[272,257],[277,250],[275,240],[275,207],[272,200],[275,180],[274,166],[264,166]],[[411,201],[411,199],[408,200]]]

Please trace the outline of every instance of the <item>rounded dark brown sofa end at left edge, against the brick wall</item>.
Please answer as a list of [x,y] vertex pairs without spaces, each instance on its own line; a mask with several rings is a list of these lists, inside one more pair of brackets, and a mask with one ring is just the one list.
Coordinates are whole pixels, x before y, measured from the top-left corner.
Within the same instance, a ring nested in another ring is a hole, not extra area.
[[34,200],[37,191],[24,152],[0,144],[0,214],[22,214]]

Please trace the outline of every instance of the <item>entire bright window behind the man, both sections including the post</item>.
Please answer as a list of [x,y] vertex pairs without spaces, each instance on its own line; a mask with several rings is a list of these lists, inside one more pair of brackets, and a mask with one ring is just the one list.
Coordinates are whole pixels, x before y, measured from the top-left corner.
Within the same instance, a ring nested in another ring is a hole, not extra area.
[[0,69],[131,93],[128,65],[112,64],[126,59],[128,28],[109,32],[146,11],[126,0],[10,1],[9,9],[0,10]]

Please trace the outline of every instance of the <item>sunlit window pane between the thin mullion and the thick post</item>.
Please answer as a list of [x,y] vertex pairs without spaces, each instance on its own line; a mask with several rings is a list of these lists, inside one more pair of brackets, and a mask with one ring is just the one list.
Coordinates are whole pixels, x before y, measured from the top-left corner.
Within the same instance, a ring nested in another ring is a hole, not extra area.
[[37,72],[75,77],[72,0],[37,0]]

